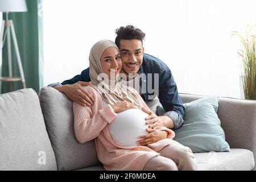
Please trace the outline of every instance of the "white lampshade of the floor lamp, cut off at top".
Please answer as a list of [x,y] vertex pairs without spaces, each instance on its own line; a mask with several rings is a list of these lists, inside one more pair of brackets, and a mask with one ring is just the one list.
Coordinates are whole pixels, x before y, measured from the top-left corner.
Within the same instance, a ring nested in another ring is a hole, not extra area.
[[0,0],[0,11],[2,12],[27,11],[26,0]]

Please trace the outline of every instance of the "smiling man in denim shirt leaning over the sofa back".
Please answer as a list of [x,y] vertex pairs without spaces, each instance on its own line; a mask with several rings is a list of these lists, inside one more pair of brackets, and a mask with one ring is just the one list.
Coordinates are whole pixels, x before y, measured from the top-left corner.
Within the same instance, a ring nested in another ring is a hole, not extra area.
[[[145,34],[139,28],[134,26],[120,27],[115,33],[117,34],[115,44],[120,50],[123,62],[121,73],[127,76],[127,81],[134,80],[137,77],[136,75],[145,75],[139,77],[139,87],[141,88],[139,93],[143,100],[147,102],[158,96],[160,103],[166,110],[166,113],[159,117],[152,112],[148,112],[150,116],[146,119],[151,129],[158,129],[160,126],[178,129],[184,122],[184,106],[170,69],[163,61],[144,53],[143,39]],[[149,84],[155,85],[155,82],[158,82],[159,90],[153,88],[154,92],[151,92],[152,89],[150,89]],[[61,84],[50,84],[49,86],[65,93],[70,100],[78,102],[82,106],[90,106],[93,104],[93,98],[82,89],[82,86],[89,84],[89,68],[87,68],[80,75],[70,80],[65,80]],[[144,137],[144,141],[147,144],[154,142],[152,136],[150,139],[150,135]],[[145,142],[142,144],[145,144]]]

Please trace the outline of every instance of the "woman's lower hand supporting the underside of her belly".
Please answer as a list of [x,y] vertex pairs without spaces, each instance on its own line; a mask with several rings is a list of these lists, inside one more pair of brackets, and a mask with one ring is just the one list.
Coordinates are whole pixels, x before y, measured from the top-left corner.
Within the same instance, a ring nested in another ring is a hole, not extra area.
[[146,146],[150,143],[155,143],[158,142],[159,140],[167,138],[166,131],[160,131],[155,129],[146,129],[146,131],[149,134],[139,137],[139,139],[141,140],[138,140],[138,146]]

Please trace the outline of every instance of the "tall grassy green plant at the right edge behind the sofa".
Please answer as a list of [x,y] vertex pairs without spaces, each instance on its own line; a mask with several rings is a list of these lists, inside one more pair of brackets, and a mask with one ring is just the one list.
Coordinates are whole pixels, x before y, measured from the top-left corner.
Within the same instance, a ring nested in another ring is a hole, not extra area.
[[237,31],[230,33],[231,38],[235,36],[243,45],[237,53],[242,57],[243,92],[245,99],[249,100],[256,100],[256,35],[251,35],[254,29],[256,29],[256,24],[246,30],[244,37]]

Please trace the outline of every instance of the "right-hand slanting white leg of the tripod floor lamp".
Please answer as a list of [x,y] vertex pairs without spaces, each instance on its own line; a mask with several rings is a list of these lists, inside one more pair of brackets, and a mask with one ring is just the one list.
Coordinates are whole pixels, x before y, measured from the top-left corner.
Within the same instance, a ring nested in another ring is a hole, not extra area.
[[11,35],[13,35],[14,49],[15,49],[15,53],[16,53],[16,57],[17,57],[18,65],[19,65],[20,77],[22,78],[22,85],[23,85],[23,88],[26,88],[26,81],[25,81],[22,63],[21,63],[21,59],[20,59],[20,55],[19,55],[19,47],[18,47],[18,43],[17,43],[17,39],[16,39],[16,34],[14,31],[13,20],[10,20],[10,28],[11,28]]

